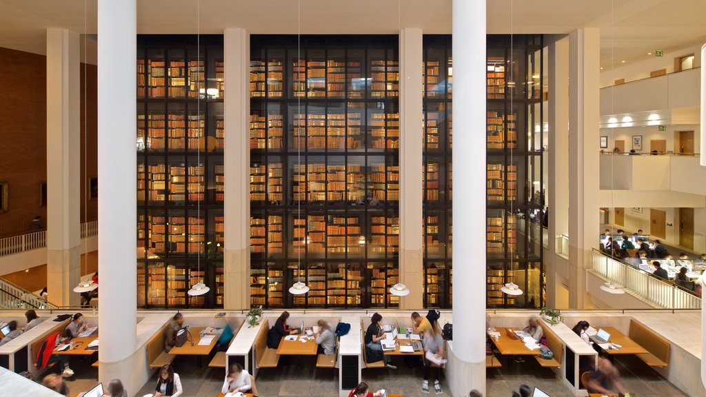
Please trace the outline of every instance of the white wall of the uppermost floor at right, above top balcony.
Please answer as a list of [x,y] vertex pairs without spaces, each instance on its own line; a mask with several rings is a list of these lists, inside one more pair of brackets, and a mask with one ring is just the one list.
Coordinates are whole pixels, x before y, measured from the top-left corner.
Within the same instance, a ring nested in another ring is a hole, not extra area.
[[[676,51],[665,52],[664,57],[654,57],[654,54],[648,56],[645,54],[645,61],[635,62],[632,64],[619,64],[615,69],[604,69],[601,71],[601,87],[613,85],[614,81],[625,78],[625,81],[635,81],[641,78],[649,78],[650,72],[666,69],[666,73],[674,72],[674,59],[681,58],[686,55],[694,54],[694,66],[701,65],[701,59],[698,54],[701,53],[701,46],[688,47]],[[616,62],[619,62],[616,61]]]

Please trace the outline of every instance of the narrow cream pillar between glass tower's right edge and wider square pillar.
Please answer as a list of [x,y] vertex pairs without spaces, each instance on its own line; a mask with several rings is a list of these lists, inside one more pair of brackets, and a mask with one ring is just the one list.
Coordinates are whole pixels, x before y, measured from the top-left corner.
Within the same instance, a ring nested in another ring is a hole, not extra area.
[[[569,191],[569,42],[556,40],[549,45],[549,255],[545,255],[546,307],[556,307],[555,263],[563,263],[556,256],[560,250],[557,237],[568,234]],[[563,274],[563,277],[566,275]]]

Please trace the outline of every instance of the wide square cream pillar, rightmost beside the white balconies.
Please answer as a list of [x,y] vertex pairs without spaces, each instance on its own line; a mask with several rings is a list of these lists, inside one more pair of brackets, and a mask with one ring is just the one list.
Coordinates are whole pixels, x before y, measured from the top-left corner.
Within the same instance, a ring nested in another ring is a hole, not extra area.
[[584,305],[585,268],[599,235],[600,30],[569,34],[569,307]]

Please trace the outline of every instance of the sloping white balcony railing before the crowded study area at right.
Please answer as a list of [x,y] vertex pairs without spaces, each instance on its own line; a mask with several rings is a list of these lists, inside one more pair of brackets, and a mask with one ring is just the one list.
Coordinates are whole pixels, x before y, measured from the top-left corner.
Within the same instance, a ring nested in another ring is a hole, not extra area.
[[701,298],[674,283],[604,255],[594,249],[593,271],[622,285],[638,297],[665,309],[700,309]]

